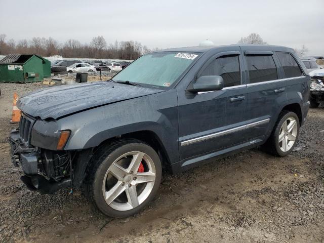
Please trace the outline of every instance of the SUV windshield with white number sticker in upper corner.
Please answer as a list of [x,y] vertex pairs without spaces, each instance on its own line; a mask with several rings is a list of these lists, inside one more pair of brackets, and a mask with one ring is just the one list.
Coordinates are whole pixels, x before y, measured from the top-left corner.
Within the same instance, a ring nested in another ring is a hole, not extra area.
[[146,54],[113,77],[115,82],[170,87],[197,57],[193,53],[156,52]]

